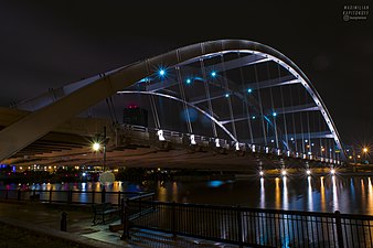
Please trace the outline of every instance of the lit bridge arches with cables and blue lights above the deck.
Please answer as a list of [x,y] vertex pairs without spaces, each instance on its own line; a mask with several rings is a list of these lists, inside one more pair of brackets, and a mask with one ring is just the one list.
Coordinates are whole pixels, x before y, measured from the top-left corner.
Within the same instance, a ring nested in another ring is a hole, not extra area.
[[332,163],[345,159],[326,105],[295,63],[264,44],[220,40],[181,47],[19,104],[18,108],[32,112],[1,130],[0,160],[73,117],[87,115],[105,99],[116,107],[135,103],[148,109],[149,126],[160,141],[162,130],[173,130],[186,133],[192,145],[203,136],[217,148],[224,140],[236,151]]

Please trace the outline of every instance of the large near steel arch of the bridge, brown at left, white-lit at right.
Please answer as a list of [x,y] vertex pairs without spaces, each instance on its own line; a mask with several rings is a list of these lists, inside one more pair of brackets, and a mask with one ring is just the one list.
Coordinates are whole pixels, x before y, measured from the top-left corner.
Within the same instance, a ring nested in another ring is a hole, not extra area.
[[[334,142],[343,154],[339,133],[326,105],[311,82],[294,62],[275,48],[257,42],[246,40],[217,40],[188,45],[124,66],[120,69],[111,71],[105,76],[93,80],[90,84],[77,88],[75,91],[62,97],[55,103],[8,126],[0,131],[0,160],[11,157],[92,105],[95,105],[106,97],[122,90],[127,86],[150,76],[153,73],[151,72],[153,66],[167,64],[170,67],[174,67],[184,63],[190,63],[193,60],[228,52],[260,54],[287,68],[290,74],[301,82],[316,105],[320,107],[323,119],[327,122],[330,132],[333,134]],[[58,118],[55,118],[55,112],[58,112]],[[40,122],[45,125],[39,125]]]

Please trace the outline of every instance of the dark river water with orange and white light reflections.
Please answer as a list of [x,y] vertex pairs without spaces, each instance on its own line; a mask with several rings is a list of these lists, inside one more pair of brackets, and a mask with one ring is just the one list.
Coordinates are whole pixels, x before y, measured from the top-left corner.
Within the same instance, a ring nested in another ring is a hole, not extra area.
[[[159,201],[373,215],[373,179],[287,176],[235,181],[115,182],[106,191],[153,191]],[[17,188],[18,185],[8,185]],[[33,184],[41,190],[100,191],[99,183]]]

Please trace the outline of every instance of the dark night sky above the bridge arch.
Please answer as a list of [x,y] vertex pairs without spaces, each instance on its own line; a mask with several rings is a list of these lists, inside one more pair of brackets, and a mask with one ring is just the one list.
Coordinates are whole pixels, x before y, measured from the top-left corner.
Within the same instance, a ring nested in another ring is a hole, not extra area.
[[343,21],[345,0],[124,2],[1,1],[0,106],[184,45],[244,39],[306,73],[344,143],[373,143],[373,13]]

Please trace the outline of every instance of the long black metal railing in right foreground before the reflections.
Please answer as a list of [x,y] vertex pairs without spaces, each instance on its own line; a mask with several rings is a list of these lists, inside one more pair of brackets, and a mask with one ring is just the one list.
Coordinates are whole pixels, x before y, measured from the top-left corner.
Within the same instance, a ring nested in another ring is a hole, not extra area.
[[129,228],[251,247],[373,247],[373,216],[127,201]]

